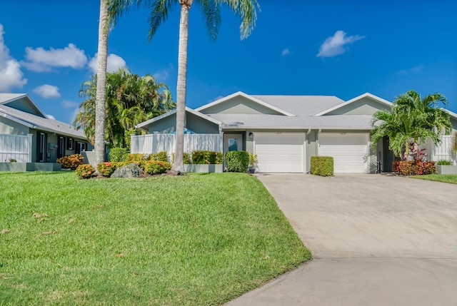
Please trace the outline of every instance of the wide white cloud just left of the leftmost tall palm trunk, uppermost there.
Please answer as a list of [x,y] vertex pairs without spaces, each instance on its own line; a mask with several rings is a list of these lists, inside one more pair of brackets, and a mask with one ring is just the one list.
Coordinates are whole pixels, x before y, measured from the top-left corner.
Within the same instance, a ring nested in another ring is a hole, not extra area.
[[87,63],[84,50],[69,44],[64,49],[26,47],[26,61],[21,62],[27,69],[36,72],[51,71],[53,67],[83,68]]

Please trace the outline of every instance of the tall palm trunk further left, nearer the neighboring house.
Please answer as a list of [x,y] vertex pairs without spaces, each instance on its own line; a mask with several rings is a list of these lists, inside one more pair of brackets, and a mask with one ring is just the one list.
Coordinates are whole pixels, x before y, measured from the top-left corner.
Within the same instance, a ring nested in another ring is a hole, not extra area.
[[100,1],[99,63],[97,66],[97,91],[95,103],[95,163],[105,159],[105,111],[106,111],[106,61],[108,56],[108,1]]

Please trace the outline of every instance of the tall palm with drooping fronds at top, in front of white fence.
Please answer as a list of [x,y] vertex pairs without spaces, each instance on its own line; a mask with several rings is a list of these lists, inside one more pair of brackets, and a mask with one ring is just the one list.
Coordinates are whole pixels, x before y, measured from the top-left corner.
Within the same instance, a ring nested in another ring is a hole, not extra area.
[[[111,0],[110,16],[116,21],[124,11],[128,11],[133,0]],[[206,27],[211,39],[216,39],[221,23],[221,4],[229,6],[233,13],[240,16],[240,36],[245,39],[251,34],[259,8],[256,0],[195,0],[201,6],[206,19]],[[176,152],[173,170],[184,173],[184,121],[186,116],[186,78],[187,78],[187,42],[189,39],[189,9],[194,0],[136,0],[149,6],[149,41],[151,41],[162,21],[168,17],[169,10],[179,3],[181,16],[179,21],[178,81],[176,86]]]

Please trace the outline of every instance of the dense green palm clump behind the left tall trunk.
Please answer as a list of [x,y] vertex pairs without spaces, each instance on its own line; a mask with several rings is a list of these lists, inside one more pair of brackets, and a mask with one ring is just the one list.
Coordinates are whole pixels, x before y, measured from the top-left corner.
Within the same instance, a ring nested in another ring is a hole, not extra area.
[[[79,96],[86,100],[79,106],[74,121],[76,129],[84,129],[86,138],[94,143],[97,76],[84,81]],[[150,74],[138,76],[126,68],[106,73],[104,139],[109,146],[128,147],[135,126],[173,109],[171,93],[164,83],[157,83]]]

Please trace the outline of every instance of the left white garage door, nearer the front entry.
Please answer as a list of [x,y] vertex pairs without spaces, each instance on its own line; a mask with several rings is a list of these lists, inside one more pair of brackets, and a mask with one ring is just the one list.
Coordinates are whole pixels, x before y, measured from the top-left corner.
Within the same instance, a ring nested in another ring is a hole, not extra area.
[[303,172],[303,133],[254,133],[259,172]]

